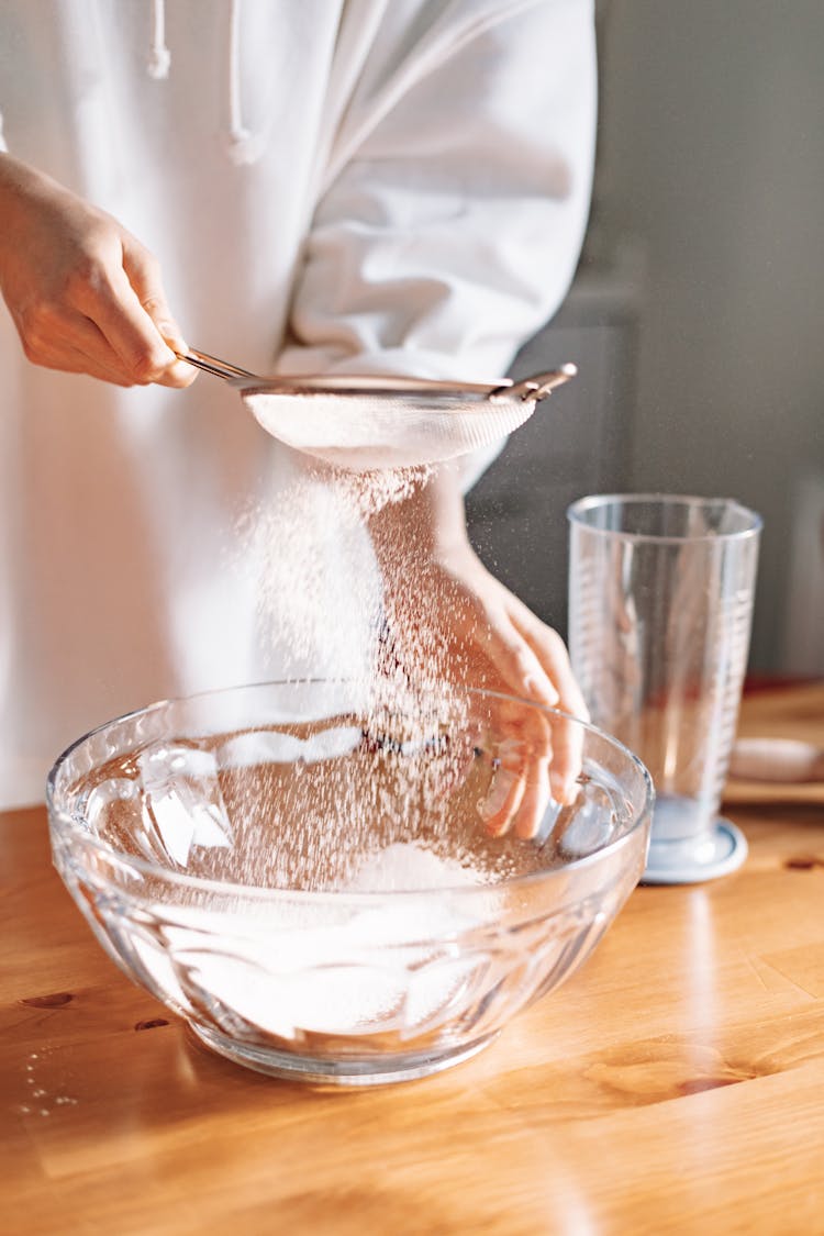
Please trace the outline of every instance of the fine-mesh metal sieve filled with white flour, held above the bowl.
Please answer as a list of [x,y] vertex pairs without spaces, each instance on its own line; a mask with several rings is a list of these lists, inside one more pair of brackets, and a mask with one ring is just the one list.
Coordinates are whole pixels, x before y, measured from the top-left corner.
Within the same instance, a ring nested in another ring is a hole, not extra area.
[[273,438],[353,472],[441,464],[490,445],[577,373],[562,365],[518,382],[457,386],[395,375],[263,378],[206,352],[179,358],[230,382]]

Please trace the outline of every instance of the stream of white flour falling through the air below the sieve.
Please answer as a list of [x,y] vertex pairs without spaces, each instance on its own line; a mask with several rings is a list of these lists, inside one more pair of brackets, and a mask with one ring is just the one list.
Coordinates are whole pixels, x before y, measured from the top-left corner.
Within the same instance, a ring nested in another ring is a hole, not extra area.
[[[461,666],[442,635],[446,602],[406,570],[414,523],[399,522],[403,544],[384,545],[380,566],[369,534],[377,514],[413,498],[430,477],[427,467],[355,473],[303,465],[271,501],[243,514],[240,565],[257,572],[261,639],[273,669],[287,679],[358,682],[363,749],[359,758],[346,745],[340,759],[329,749],[321,760],[310,756],[306,744],[329,739],[327,730],[301,735],[300,761],[275,756],[232,774],[232,761],[221,760],[235,833],[231,873],[221,855],[225,878],[309,891],[343,886],[378,832],[384,847],[409,837],[406,817],[416,803],[420,815],[421,796],[430,828],[445,816],[445,791],[471,759],[466,735],[432,749],[445,734],[460,735],[466,717],[463,693],[450,687]],[[279,806],[277,848],[258,839],[262,802]],[[441,838],[446,828],[444,818]]]

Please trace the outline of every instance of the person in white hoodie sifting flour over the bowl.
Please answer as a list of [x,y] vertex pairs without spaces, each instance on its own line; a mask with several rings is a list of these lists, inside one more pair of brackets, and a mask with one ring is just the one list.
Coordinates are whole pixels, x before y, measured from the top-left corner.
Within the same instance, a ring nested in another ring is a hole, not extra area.
[[[188,340],[254,372],[481,381],[551,316],[589,200],[592,4],[11,0],[0,109],[9,807],[111,716],[272,676],[225,545],[294,461],[194,382]],[[448,592],[462,664],[582,712],[558,635],[469,546],[468,480],[382,519],[414,510],[409,570]]]

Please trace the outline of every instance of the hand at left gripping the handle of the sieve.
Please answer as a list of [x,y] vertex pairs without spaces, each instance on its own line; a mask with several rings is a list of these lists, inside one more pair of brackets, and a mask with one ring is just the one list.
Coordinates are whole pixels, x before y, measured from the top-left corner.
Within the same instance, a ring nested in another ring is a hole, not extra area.
[[0,154],[0,292],[35,365],[128,387],[196,371],[157,260],[103,210]]

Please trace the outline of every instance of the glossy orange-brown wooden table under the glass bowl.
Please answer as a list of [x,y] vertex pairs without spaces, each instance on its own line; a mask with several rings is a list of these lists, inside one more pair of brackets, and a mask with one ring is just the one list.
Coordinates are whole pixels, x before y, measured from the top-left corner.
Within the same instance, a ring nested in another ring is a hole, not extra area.
[[[824,740],[824,686],[750,733]],[[0,1231],[824,1232],[824,795],[728,813],[735,875],[639,889],[586,967],[425,1082],[310,1090],[199,1047],[0,817]]]

